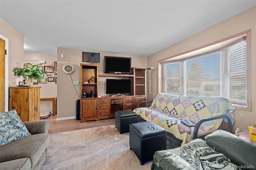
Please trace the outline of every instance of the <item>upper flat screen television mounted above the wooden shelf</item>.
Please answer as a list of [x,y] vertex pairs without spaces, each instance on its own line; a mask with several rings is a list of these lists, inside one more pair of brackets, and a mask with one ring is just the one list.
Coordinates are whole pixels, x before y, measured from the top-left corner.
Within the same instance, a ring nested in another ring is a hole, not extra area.
[[130,57],[104,57],[104,73],[130,74],[132,58]]

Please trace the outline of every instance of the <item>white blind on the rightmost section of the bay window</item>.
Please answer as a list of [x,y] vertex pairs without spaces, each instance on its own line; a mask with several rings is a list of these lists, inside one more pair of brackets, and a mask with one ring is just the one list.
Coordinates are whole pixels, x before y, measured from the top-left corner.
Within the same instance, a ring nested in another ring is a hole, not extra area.
[[232,103],[246,105],[247,43],[242,41],[221,52],[224,69],[224,96]]

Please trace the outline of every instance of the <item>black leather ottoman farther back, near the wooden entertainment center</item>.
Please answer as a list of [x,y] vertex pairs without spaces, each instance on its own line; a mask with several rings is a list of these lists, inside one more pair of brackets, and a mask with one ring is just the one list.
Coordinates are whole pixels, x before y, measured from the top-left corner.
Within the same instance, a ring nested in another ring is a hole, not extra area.
[[115,121],[116,128],[118,128],[120,134],[122,134],[124,132],[129,132],[129,125],[131,123],[138,122],[138,115],[131,110],[116,111]]

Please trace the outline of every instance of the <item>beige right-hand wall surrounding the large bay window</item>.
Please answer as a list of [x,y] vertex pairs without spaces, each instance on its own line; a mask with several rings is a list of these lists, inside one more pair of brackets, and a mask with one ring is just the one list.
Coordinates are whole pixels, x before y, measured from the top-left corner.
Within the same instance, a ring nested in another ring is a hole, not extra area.
[[[223,38],[226,38],[228,36],[232,36],[234,34],[250,30],[252,31],[252,37],[251,37],[251,87],[252,91],[251,93],[251,105],[252,110],[251,111],[244,111],[244,110],[238,110],[233,113],[235,124],[233,125],[233,132],[236,130],[236,128],[239,128],[240,131],[247,130],[247,125],[244,123],[242,118],[240,117],[241,113],[243,114],[243,117],[246,119],[249,125],[253,125],[256,123],[256,91],[254,90],[255,84],[256,84],[256,67],[254,66],[254,63],[256,63],[256,7],[253,7],[249,10],[246,10],[236,16],[233,16],[232,18],[229,18],[228,20],[225,20],[223,22],[220,22],[219,24],[216,24],[198,34],[195,34],[194,36],[191,36],[190,38],[187,38],[181,42],[178,42],[170,47],[167,47],[161,51],[158,51],[157,53],[154,53],[150,56],[148,56],[148,66],[149,67],[155,67],[157,69],[153,70],[151,72],[152,76],[152,88],[151,88],[151,96],[156,96],[158,92],[161,92],[160,90],[160,82],[161,79],[161,70],[158,67],[158,61],[162,61],[163,59],[170,58],[171,56],[178,55],[180,53],[183,53],[185,51],[190,51],[192,49],[196,49],[198,47],[201,47],[205,44],[209,44],[212,42],[216,42],[218,40],[221,40]],[[178,33],[182,34],[182,33]],[[159,69],[159,70],[158,70]]]

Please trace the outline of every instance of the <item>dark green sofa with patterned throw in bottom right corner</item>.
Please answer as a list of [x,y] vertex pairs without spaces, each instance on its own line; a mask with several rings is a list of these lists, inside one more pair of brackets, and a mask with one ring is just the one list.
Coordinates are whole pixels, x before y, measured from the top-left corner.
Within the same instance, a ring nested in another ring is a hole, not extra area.
[[151,170],[256,170],[256,144],[234,134],[216,130],[202,140],[178,148],[156,151]]

